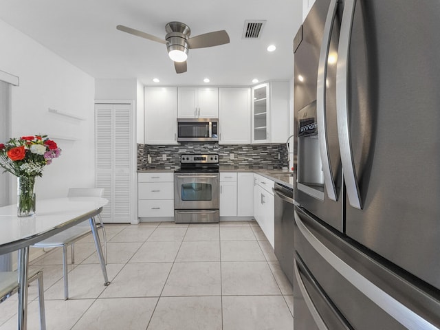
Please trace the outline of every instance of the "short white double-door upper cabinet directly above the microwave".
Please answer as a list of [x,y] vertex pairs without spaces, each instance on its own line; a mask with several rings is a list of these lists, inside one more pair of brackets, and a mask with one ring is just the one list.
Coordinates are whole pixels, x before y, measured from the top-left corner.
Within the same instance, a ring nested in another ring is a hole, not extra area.
[[178,87],[178,118],[218,118],[219,89],[217,87]]

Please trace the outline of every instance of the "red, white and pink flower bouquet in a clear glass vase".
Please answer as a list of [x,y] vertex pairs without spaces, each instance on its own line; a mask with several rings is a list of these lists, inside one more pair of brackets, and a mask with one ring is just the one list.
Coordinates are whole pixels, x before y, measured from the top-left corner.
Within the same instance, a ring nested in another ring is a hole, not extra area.
[[61,149],[47,135],[22,136],[0,143],[0,166],[18,178],[17,208],[19,217],[35,213],[35,177],[43,175],[43,168],[59,157]]

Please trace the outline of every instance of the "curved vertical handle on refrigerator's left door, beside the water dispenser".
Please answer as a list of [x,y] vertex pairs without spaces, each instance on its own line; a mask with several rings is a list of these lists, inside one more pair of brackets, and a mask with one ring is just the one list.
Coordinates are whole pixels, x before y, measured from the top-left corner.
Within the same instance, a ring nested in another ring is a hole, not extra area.
[[327,139],[327,115],[325,109],[325,94],[327,80],[327,58],[329,57],[331,30],[335,21],[336,9],[338,8],[338,0],[331,0],[327,19],[325,19],[324,36],[319,54],[318,63],[318,79],[316,82],[316,119],[318,121],[318,142],[322,160],[322,172],[324,173],[325,187],[327,195],[333,201],[338,200],[336,194],[335,180],[333,179],[333,171],[331,169],[329,142]]

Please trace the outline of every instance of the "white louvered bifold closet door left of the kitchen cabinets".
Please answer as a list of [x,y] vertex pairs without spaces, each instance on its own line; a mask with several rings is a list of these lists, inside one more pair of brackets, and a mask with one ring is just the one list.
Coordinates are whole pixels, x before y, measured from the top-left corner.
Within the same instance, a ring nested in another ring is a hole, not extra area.
[[133,214],[135,144],[131,104],[96,104],[96,186],[109,204],[105,222],[129,223]]

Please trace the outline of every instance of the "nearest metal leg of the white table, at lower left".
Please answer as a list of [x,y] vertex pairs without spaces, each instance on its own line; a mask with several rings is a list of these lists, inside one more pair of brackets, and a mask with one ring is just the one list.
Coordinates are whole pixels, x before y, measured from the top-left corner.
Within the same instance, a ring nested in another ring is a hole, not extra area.
[[29,246],[19,250],[18,273],[19,273],[19,330],[28,327],[28,265]]

